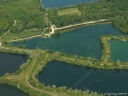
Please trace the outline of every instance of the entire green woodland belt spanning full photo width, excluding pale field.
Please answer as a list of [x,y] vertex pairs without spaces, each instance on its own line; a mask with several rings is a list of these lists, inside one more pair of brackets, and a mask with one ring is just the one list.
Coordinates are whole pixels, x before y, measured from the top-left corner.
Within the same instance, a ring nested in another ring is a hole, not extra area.
[[[108,19],[122,32],[128,33],[128,0],[99,0],[63,8],[45,9],[40,0],[0,0],[0,35],[10,29],[44,29],[52,22],[57,27],[87,21]],[[59,10],[77,8],[81,14],[58,15]],[[46,15],[46,13],[48,15]]]

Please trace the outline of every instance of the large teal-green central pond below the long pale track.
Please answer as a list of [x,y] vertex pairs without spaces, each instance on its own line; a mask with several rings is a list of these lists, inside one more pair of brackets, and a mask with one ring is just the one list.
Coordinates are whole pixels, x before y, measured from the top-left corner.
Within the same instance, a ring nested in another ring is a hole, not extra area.
[[100,36],[102,35],[120,36],[123,34],[112,24],[98,24],[71,30],[51,38],[38,37],[28,41],[14,42],[12,45],[26,46],[29,49],[38,47],[40,49],[100,59],[103,49],[100,42]]

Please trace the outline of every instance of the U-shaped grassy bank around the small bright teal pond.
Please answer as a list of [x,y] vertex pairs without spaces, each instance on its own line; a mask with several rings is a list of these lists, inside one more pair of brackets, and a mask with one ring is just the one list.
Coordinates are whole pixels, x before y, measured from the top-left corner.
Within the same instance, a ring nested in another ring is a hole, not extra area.
[[109,44],[109,40],[128,41],[128,36],[101,36],[100,39],[103,46],[101,64],[107,69],[128,69],[128,62],[113,62]]

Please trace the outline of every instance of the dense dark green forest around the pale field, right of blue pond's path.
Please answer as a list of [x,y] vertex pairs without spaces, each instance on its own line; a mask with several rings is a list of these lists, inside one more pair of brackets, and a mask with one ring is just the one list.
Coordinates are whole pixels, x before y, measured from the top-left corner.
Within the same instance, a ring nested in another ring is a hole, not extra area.
[[[76,7],[81,15],[57,14],[58,10]],[[49,20],[57,27],[92,20],[109,19],[122,32],[128,33],[128,0],[99,0],[64,8],[47,9]]]

